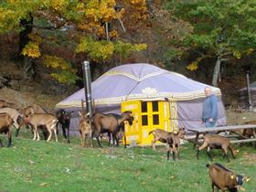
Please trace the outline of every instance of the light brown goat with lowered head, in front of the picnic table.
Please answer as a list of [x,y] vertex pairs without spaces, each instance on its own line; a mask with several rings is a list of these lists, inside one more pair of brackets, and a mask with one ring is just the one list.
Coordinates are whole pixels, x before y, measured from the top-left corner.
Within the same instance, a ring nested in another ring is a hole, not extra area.
[[230,144],[229,138],[220,136],[219,134],[206,134],[204,136],[204,143],[197,147],[197,159],[199,158],[199,151],[202,149],[208,147],[208,157],[210,160],[212,160],[211,155],[209,154],[210,149],[222,149],[224,151],[223,158],[227,156],[227,159],[229,161],[229,155],[228,155],[228,148],[233,156],[233,158],[236,158],[236,155],[239,153],[239,150],[235,150],[232,144]]

